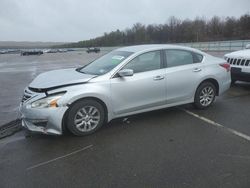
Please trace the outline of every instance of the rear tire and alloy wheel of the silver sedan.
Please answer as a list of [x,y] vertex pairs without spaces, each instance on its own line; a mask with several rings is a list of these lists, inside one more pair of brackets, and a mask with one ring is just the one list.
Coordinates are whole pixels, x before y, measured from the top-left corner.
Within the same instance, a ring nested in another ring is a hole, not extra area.
[[215,100],[216,88],[211,82],[204,82],[196,90],[194,97],[194,106],[197,109],[206,109],[211,106]]

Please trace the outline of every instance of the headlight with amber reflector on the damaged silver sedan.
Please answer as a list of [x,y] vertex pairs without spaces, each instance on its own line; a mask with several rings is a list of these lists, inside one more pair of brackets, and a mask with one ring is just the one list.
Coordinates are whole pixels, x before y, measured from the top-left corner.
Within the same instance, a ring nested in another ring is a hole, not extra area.
[[57,101],[63,96],[63,93],[58,95],[49,96],[43,99],[39,99],[31,103],[31,108],[49,108],[49,107],[58,107]]

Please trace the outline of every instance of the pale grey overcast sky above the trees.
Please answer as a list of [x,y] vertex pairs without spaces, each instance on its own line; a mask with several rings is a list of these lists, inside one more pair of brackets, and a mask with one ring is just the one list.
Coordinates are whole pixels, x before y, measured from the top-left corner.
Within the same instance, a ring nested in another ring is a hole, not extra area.
[[72,42],[124,30],[250,12],[250,0],[0,0],[0,41]]

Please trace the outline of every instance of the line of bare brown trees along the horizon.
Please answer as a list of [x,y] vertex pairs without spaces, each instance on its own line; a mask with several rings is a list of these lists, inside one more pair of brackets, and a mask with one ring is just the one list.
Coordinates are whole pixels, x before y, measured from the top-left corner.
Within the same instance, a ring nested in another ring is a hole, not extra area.
[[170,17],[165,24],[144,25],[136,23],[132,28],[104,33],[103,36],[65,44],[63,47],[124,46],[153,43],[207,42],[219,40],[250,39],[250,14],[239,18],[214,16],[180,20]]

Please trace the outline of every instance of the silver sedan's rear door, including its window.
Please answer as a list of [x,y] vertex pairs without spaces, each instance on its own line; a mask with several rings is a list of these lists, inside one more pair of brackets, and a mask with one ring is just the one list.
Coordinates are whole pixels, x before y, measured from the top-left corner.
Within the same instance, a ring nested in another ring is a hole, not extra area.
[[194,97],[202,77],[203,56],[191,51],[169,49],[164,51],[167,64],[167,103],[178,103]]

